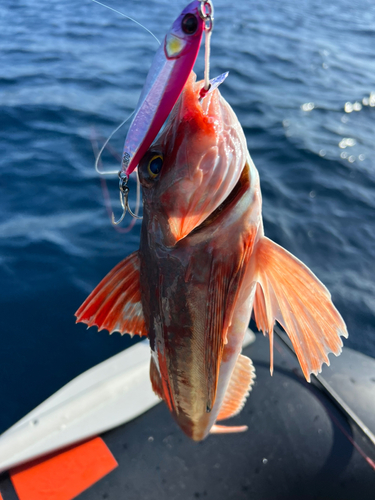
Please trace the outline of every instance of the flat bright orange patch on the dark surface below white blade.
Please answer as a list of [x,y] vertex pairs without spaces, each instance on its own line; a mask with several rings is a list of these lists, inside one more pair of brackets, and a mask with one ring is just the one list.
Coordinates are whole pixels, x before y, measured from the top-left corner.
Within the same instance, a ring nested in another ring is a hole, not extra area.
[[117,467],[101,438],[15,467],[9,475],[20,500],[72,500]]

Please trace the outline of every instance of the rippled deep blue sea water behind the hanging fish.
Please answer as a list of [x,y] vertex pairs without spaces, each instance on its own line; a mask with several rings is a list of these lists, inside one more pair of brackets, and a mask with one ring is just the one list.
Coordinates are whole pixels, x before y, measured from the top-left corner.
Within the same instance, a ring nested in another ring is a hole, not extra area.
[[[160,39],[185,6],[108,2]],[[375,4],[214,5],[211,74],[230,72],[221,90],[260,173],[266,235],[326,284],[346,345],[375,357]],[[73,314],[138,247],[140,223],[110,224],[92,141],[133,110],[157,43],[90,0],[3,0],[0,33],[2,432],[132,342]],[[109,189],[119,214],[116,176]]]

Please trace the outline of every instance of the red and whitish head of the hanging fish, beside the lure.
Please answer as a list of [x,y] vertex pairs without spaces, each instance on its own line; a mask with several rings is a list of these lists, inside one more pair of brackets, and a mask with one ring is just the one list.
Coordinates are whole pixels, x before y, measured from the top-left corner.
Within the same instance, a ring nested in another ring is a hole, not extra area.
[[246,139],[216,88],[200,99],[192,72],[156,142],[141,160],[148,231],[174,246],[225,201],[246,163]]

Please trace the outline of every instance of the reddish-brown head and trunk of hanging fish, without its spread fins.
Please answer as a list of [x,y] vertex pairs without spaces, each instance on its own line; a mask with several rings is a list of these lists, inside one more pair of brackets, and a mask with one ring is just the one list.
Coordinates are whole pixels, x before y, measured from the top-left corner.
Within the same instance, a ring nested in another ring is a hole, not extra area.
[[[151,376],[160,379],[160,395],[195,440],[215,423],[241,351],[254,295],[254,285],[243,283],[244,254],[261,220],[259,180],[254,171],[250,188],[242,128],[219,91],[200,103],[201,87],[192,77],[139,165],[141,295]],[[164,182],[148,188],[146,166],[157,154],[164,157]]]

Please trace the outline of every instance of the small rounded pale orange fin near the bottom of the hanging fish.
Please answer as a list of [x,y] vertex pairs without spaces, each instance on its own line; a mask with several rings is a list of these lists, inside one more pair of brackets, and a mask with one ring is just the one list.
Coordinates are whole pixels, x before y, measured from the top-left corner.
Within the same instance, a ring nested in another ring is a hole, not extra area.
[[242,410],[255,380],[251,359],[240,354],[227,387],[217,420],[234,417]]

